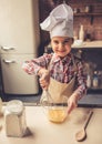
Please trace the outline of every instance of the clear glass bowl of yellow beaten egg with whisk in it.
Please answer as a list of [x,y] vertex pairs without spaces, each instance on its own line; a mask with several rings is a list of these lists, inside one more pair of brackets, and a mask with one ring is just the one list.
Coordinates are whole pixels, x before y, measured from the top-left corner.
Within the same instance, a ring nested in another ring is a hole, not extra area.
[[61,103],[54,103],[48,91],[43,92],[41,105],[49,121],[53,123],[62,123],[68,116],[67,105],[64,105],[68,97],[63,96]]

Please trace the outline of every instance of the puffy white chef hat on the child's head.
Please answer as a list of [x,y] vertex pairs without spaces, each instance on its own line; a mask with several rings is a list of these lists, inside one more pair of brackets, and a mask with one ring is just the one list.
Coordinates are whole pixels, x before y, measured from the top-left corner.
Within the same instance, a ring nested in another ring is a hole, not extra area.
[[50,37],[73,38],[73,11],[63,3],[54,8],[49,17],[40,23],[42,30],[49,31]]

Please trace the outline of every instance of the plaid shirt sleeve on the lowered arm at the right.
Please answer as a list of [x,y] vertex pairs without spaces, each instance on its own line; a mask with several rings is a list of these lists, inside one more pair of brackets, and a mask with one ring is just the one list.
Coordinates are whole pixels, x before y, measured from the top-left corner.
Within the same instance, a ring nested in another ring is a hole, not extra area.
[[84,62],[76,63],[76,79],[75,79],[75,91],[81,99],[84,94],[86,94],[86,72],[84,71]]

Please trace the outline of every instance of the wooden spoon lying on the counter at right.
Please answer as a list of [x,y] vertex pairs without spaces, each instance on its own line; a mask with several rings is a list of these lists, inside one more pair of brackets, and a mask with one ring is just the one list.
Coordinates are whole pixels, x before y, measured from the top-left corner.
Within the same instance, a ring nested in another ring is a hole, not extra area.
[[85,120],[85,122],[84,122],[84,124],[83,124],[83,127],[82,127],[79,132],[76,132],[76,134],[75,134],[75,140],[76,140],[78,142],[81,142],[81,141],[83,141],[83,140],[86,137],[86,131],[85,131],[85,128],[86,128],[86,126],[88,126],[88,123],[89,123],[89,121],[90,121],[92,114],[93,114],[93,112],[90,111],[90,113],[88,114],[88,117],[86,117],[86,120]]

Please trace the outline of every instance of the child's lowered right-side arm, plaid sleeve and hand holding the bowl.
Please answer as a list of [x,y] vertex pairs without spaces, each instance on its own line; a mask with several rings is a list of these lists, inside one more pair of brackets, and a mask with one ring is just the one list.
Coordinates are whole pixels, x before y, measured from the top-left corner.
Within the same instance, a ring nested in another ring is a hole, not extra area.
[[78,106],[78,101],[86,94],[86,74],[82,62],[78,63],[78,74],[75,80],[75,90],[68,100],[68,113]]

